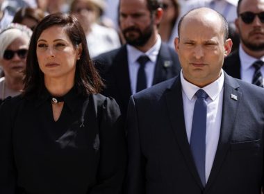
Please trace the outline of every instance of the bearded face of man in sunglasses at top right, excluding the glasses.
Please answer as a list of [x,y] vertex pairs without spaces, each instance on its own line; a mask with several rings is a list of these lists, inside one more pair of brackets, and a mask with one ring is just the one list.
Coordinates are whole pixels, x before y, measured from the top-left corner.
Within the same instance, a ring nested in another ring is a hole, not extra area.
[[[260,13],[264,12],[263,0],[243,0],[240,4],[239,14],[245,12]],[[264,24],[255,16],[250,24],[242,21],[239,16],[236,19],[236,27],[240,34],[241,44],[250,51],[263,51],[264,50]]]

